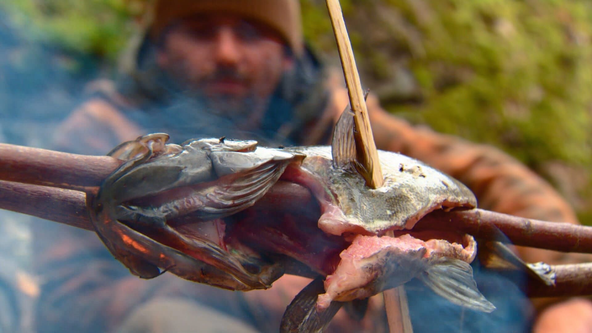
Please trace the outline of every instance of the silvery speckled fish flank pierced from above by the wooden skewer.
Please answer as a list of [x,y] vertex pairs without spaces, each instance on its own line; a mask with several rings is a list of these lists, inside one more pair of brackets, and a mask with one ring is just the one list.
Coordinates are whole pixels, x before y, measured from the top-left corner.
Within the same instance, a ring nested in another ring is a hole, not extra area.
[[334,168],[329,146],[289,151],[307,156],[301,168],[311,177],[308,181],[323,186],[324,193],[317,197],[326,206],[321,207],[324,215],[318,227],[332,235],[381,235],[387,230],[411,229],[436,209],[477,206],[475,195],[464,184],[399,153],[378,151],[384,185],[372,189],[353,168]]

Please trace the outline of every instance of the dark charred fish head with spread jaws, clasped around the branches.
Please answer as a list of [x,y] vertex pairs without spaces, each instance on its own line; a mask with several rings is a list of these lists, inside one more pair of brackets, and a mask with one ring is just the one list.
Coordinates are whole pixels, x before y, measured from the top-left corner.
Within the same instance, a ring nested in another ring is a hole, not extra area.
[[304,156],[250,140],[165,145],[166,139],[144,136],[112,152],[128,160],[89,201],[111,254],[143,278],[170,271],[232,290],[271,286],[284,274],[282,265],[224,240],[223,218],[252,206]]

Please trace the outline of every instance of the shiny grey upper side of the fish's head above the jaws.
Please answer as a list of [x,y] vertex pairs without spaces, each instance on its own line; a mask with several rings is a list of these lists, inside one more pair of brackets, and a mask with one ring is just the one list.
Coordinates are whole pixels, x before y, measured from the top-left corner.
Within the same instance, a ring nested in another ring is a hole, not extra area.
[[[112,178],[115,201],[128,201],[174,188],[211,182],[229,174],[248,173],[294,154],[258,147],[255,140],[192,139],[182,145],[165,145],[159,133],[123,143],[110,153],[128,163]],[[239,175],[237,175],[239,177]]]

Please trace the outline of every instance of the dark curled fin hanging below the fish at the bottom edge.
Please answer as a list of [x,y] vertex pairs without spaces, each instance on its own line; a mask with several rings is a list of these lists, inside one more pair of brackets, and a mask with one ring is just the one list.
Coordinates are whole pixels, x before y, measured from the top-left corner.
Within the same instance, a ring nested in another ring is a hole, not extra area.
[[343,302],[331,302],[329,308],[318,312],[317,297],[325,292],[323,277],[317,277],[309,283],[284,312],[279,331],[284,332],[323,332],[331,319],[343,306]]

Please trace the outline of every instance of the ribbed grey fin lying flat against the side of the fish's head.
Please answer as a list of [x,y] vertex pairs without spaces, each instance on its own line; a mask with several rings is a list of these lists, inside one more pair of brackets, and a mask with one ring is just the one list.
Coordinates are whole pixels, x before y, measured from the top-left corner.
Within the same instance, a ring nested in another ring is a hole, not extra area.
[[252,206],[279,180],[289,162],[270,161],[240,177],[226,178],[205,195],[204,206],[195,213],[200,218],[212,219]]

